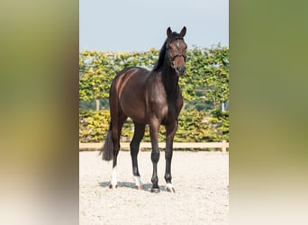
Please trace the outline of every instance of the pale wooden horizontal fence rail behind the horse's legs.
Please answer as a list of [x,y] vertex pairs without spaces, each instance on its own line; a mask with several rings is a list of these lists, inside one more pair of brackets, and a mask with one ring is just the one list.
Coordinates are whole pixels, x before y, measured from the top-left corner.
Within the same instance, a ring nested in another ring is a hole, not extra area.
[[[93,150],[103,147],[104,143],[79,143],[79,150]],[[151,148],[150,142],[140,142],[140,149]],[[166,148],[166,143],[160,142],[159,148]],[[193,148],[222,148],[222,152],[226,152],[229,148],[229,142],[222,140],[222,142],[174,142],[173,148],[178,149],[193,149]],[[122,142],[121,149],[129,150],[130,142]]]

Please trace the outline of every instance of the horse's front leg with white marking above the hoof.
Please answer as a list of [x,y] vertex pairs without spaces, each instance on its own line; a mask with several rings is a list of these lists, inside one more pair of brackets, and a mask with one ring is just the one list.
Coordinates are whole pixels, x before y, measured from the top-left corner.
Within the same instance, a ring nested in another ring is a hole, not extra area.
[[171,184],[171,160],[173,155],[173,139],[175,137],[177,131],[177,121],[169,123],[166,125],[166,150],[165,150],[165,159],[166,159],[166,172],[165,172],[165,180],[166,180],[166,191],[170,193],[175,193],[175,188]]

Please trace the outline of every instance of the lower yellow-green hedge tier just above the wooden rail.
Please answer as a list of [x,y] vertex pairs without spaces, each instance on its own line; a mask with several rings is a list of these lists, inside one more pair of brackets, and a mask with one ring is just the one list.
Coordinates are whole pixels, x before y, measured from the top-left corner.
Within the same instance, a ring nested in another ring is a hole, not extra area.
[[[213,116],[214,113],[220,115]],[[205,120],[209,118],[208,120]],[[221,121],[218,119],[221,118]],[[79,140],[81,142],[103,142],[109,129],[108,110],[79,112]],[[182,111],[178,117],[177,142],[211,142],[229,139],[229,113]],[[133,135],[133,123],[128,119],[122,129],[122,141],[130,141]],[[149,140],[149,126],[143,138]],[[160,126],[159,141],[165,141],[165,128]]]

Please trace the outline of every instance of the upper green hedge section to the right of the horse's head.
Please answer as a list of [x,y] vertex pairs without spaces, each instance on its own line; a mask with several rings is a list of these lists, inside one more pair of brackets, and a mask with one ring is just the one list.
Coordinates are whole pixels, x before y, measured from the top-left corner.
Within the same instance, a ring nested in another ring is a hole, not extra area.
[[188,50],[186,76],[180,84],[186,100],[213,101],[218,108],[220,102],[229,99],[229,49],[216,46]]

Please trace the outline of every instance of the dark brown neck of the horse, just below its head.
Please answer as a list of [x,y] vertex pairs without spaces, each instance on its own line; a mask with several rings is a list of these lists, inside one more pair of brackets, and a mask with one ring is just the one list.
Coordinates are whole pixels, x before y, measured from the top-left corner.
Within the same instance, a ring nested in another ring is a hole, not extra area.
[[161,70],[161,79],[165,87],[168,99],[177,98],[180,93],[178,86],[178,76],[176,71],[166,65],[166,63]]

